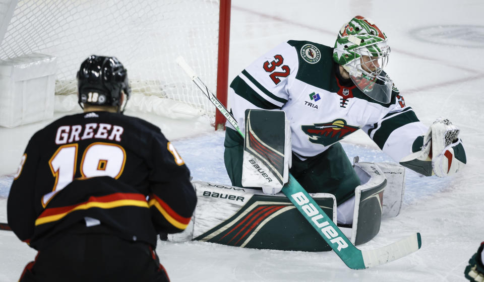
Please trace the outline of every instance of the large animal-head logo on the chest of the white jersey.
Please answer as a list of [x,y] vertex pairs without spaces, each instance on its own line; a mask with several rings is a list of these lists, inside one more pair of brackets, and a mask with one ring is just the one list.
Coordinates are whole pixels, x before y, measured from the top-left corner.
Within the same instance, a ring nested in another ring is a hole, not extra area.
[[335,119],[327,123],[301,125],[304,133],[309,135],[311,143],[329,146],[358,130],[359,127],[346,124],[344,119]]

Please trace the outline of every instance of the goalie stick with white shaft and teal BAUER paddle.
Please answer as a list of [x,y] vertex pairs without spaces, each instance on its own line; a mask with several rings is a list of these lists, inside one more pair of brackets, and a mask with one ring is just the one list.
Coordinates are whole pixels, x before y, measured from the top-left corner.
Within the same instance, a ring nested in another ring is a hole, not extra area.
[[[220,103],[215,95],[208,89],[203,81],[196,75],[194,70],[187,64],[183,57],[176,58],[178,65],[185,70],[191,80],[197,85],[202,93],[212,101],[219,110],[244,137],[244,133],[230,114]],[[328,243],[333,251],[352,269],[365,269],[368,267],[384,264],[415,252],[421,247],[420,233],[414,233],[393,244],[374,250],[361,251],[356,248],[336,224],[328,217],[306,190],[289,174],[289,181],[282,187],[282,193],[294,204],[302,216],[314,227],[321,237]]]

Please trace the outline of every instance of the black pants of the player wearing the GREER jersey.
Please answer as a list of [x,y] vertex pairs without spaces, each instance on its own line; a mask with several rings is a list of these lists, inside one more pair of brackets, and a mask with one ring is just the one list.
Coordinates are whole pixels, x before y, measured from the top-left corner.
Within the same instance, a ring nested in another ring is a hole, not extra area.
[[169,281],[152,247],[107,234],[66,234],[40,250],[20,281]]

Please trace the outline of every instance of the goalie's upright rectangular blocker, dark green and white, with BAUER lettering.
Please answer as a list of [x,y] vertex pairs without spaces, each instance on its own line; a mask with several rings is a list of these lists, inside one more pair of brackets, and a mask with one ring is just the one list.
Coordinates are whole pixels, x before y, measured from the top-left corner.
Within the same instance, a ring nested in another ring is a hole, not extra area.
[[289,179],[291,129],[284,111],[247,110],[242,185],[280,192]]

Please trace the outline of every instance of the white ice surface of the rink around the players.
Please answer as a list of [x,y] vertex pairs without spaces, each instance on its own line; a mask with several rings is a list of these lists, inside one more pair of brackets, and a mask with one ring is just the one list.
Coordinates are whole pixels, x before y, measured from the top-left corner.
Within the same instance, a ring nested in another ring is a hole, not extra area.
[[[401,214],[382,222],[361,249],[390,244],[420,232],[422,248],[374,269],[348,269],[333,252],[253,250],[212,243],[159,242],[157,252],[172,281],[464,281],[463,270],[484,240],[484,2],[232,0],[229,80],[253,59],[288,39],[332,46],[339,28],[355,15],[372,18],[390,39],[387,67],[407,105],[426,124],[443,115],[461,128],[464,171],[451,178],[407,173]],[[446,32],[452,26],[454,32]],[[457,28],[456,28],[457,27]],[[423,33],[430,30],[430,33]],[[421,34],[427,34],[422,36]],[[440,43],[435,43],[440,40]],[[430,42],[429,42],[430,41]],[[202,78],[203,79],[203,78]],[[195,180],[229,184],[223,165],[223,132],[204,118],[168,120],[140,115],[160,126]],[[29,137],[49,121],[0,128],[0,222],[6,196]],[[360,130],[343,142],[361,161],[390,161]],[[12,232],[0,231],[0,281],[16,281],[35,251]]]

